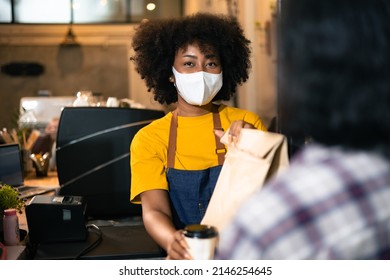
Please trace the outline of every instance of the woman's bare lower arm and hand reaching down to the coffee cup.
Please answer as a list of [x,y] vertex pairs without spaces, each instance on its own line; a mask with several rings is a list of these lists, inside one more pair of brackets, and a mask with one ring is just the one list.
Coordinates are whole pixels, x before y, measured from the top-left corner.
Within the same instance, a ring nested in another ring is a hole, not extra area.
[[167,259],[190,259],[181,231],[172,222],[166,190],[141,193],[142,218],[150,236],[167,252]]

